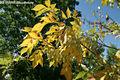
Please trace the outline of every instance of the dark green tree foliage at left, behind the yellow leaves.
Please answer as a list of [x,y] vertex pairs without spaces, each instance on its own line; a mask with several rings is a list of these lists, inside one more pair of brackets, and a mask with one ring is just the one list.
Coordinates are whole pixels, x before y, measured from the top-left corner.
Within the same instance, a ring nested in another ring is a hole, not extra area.
[[[20,29],[25,26],[32,27],[36,22],[39,21],[38,17],[35,18],[35,12],[32,11],[31,8],[33,8],[38,3],[44,4],[45,0],[16,1],[34,2],[34,4],[0,4],[0,67],[2,66],[2,69],[0,69],[0,73],[3,68],[6,68],[7,72],[11,73],[11,70],[14,67],[12,67],[11,69],[10,62],[17,60],[12,58],[14,58],[13,56],[15,56],[16,54],[20,54],[20,49],[18,49],[18,46],[22,42],[23,37],[26,35],[26,33],[20,31]],[[56,7],[62,10],[65,10],[67,6],[70,6],[70,9],[73,10],[75,8],[75,4],[77,4],[78,2],[76,2],[75,0],[71,0],[70,2],[68,2],[68,0],[52,0],[52,3],[56,3],[56,5],[59,5]],[[63,3],[65,4],[64,7],[62,5]],[[21,62],[23,61],[19,61],[19,65],[22,65]],[[14,63],[12,63],[12,65],[13,64]],[[8,67],[10,67],[10,71]],[[19,66],[17,68],[19,68]]]

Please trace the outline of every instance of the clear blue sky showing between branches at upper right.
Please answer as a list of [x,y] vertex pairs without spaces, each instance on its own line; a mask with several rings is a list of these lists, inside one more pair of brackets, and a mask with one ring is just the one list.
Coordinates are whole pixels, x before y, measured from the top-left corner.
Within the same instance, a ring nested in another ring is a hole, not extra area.
[[[120,8],[117,8],[116,4],[114,8],[111,8],[110,6],[104,6],[101,7],[101,0],[94,0],[92,3],[86,2],[86,0],[77,0],[79,1],[79,5],[76,6],[76,10],[81,11],[82,17],[86,18],[90,21],[95,21],[96,18],[93,16],[93,11],[98,10],[98,6],[100,6],[100,10],[102,12],[102,15],[105,16],[108,14],[114,21],[117,21],[120,24]],[[85,27],[87,28],[87,27]],[[111,35],[108,35],[105,37],[104,43],[109,45],[110,43],[113,43],[117,48],[120,48],[120,38],[115,38]],[[107,52],[105,50],[104,55],[106,55]]]

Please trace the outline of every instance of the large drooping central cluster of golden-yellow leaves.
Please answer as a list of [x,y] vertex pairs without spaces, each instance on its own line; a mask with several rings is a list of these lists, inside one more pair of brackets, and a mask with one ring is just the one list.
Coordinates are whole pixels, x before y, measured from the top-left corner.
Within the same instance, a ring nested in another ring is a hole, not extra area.
[[[92,2],[93,0],[91,0]],[[72,65],[73,59],[76,59],[78,64],[81,64],[83,57],[86,57],[88,52],[87,47],[90,47],[88,40],[81,39],[81,21],[77,17],[78,13],[75,10],[73,14],[69,8],[66,12],[63,12],[55,8],[55,4],[51,4],[50,0],[45,1],[45,5],[38,4],[32,10],[37,11],[36,17],[40,17],[40,22],[35,24],[32,28],[24,27],[22,31],[28,32],[24,41],[20,44],[21,55],[27,53],[29,55],[28,60],[32,61],[32,66],[35,68],[38,64],[43,65],[43,54],[47,53],[47,58],[50,61],[49,67],[57,66],[63,63],[61,75],[65,75],[67,80],[72,80]],[[62,18],[64,20],[73,18],[71,21],[72,26],[66,25],[63,21],[60,21],[58,12],[61,11]],[[43,28],[50,23],[50,29],[42,34]],[[101,29],[99,33],[102,38],[105,35]],[[43,38],[46,35],[46,38]],[[80,43],[82,42],[81,45]],[[53,44],[55,44],[53,46]],[[84,73],[84,72],[83,72]],[[81,73],[80,73],[81,74]]]

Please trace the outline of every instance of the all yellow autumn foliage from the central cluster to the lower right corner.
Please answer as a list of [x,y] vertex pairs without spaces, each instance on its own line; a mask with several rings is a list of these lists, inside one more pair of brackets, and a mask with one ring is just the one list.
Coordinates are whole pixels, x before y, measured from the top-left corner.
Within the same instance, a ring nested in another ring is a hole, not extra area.
[[[105,1],[108,0],[102,0],[102,6],[107,4]],[[102,43],[108,34],[120,38],[119,24],[111,20],[108,23],[86,21],[91,24],[91,29],[83,31],[84,21],[77,10],[71,11],[67,7],[63,11],[56,8],[56,4],[52,4],[50,0],[36,5],[32,10],[36,12],[39,22],[33,27],[21,29],[27,32],[19,46],[22,57],[13,59],[31,61],[32,67],[36,68],[38,65],[44,67],[46,55],[49,68],[62,64],[60,75],[64,75],[66,80],[119,80],[120,50]],[[115,50],[115,54],[111,56],[112,63],[103,57],[104,49],[101,47],[104,46]]]

